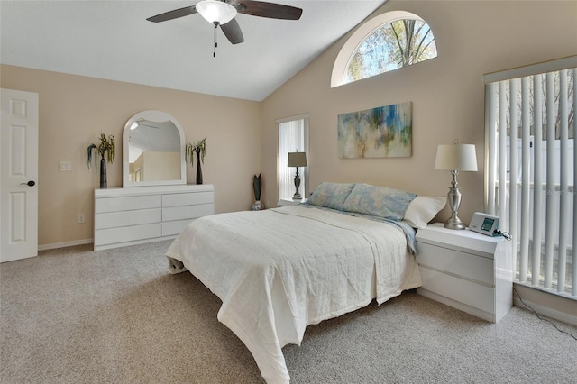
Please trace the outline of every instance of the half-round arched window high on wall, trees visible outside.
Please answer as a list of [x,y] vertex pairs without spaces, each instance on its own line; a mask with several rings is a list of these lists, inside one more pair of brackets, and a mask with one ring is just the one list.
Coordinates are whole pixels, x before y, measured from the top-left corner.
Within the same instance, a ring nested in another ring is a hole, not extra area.
[[344,44],[331,87],[436,58],[435,36],[417,14],[394,11],[364,23]]

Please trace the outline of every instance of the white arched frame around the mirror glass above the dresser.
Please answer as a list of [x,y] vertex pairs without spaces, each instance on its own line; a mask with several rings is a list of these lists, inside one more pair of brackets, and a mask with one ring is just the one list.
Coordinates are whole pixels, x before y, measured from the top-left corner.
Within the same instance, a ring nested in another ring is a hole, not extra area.
[[[138,120],[148,120],[151,122],[167,122],[170,121],[179,131],[180,136],[180,179],[161,180],[161,181],[131,181],[130,180],[130,161],[129,161],[129,144],[130,144],[130,127]],[[171,115],[162,111],[142,111],[134,114],[124,124],[123,131],[123,187],[150,187],[150,186],[172,186],[187,184],[187,163],[185,160],[185,136],[184,130],[180,123]]]

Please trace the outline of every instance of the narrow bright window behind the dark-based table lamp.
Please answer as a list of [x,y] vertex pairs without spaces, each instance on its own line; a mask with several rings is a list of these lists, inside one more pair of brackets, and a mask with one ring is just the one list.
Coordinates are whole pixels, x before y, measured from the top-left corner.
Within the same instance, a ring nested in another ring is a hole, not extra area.
[[[292,200],[295,194],[295,175],[297,169],[289,168],[289,152],[306,152],[308,159],[308,115],[277,120],[279,124],[279,153],[277,155],[277,178],[279,200]],[[300,194],[308,196],[308,167],[298,169]]]

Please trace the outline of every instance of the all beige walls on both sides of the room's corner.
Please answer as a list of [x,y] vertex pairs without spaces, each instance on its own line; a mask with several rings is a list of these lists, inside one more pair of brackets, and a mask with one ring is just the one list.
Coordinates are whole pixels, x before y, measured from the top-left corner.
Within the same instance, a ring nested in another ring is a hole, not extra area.
[[[3,65],[0,87],[40,94],[39,243],[76,242],[93,237],[94,169],[86,149],[99,133],[117,139],[108,186],[122,185],[122,130],[133,115],[158,109],[176,117],[187,141],[207,137],[203,167],[215,185],[215,211],[248,209],[252,175],[263,177],[262,200],[277,200],[275,120],[310,115],[310,182],[363,181],[421,195],[445,195],[448,172],[435,171],[439,143],[477,145],[480,171],[463,172],[460,216],[468,223],[483,209],[484,73],[577,53],[577,2],[473,2],[389,0],[376,14],[405,10],[423,17],[435,33],[439,57],[343,87],[330,88],[334,59],[345,36],[263,102],[206,96],[96,78]],[[413,102],[413,156],[342,160],[336,156],[338,114],[374,106]],[[259,151],[259,149],[261,151]],[[72,170],[60,172],[60,160]],[[188,166],[193,183],[195,170]],[[77,224],[77,214],[87,215]],[[441,219],[448,215],[447,209]]]

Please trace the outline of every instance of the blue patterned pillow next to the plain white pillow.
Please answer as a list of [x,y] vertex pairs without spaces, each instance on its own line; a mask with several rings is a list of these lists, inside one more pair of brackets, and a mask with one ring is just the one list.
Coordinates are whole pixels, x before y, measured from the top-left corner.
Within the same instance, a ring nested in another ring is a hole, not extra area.
[[351,195],[344,202],[344,210],[359,214],[401,220],[408,204],[417,195],[388,187],[355,184]]

